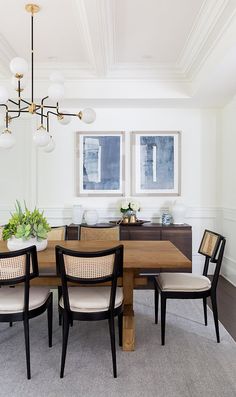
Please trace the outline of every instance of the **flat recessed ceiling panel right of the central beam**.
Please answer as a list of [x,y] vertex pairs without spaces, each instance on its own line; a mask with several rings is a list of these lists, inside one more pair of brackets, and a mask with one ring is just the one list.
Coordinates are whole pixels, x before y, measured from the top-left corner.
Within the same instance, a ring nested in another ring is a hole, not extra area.
[[204,0],[113,1],[117,62],[175,63]]

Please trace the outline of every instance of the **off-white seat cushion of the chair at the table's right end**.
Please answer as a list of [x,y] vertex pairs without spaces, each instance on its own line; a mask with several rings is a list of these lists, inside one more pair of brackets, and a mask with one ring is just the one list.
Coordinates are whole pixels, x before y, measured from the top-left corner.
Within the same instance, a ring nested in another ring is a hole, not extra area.
[[157,282],[163,291],[206,291],[211,288],[209,278],[192,273],[160,273]]

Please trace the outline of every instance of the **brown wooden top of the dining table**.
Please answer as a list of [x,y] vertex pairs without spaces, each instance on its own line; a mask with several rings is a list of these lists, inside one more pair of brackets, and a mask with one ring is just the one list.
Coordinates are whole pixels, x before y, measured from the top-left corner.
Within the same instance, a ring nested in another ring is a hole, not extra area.
[[[189,270],[191,261],[170,241],[48,241],[48,247],[38,252],[39,269],[55,269],[55,246],[77,251],[99,251],[124,245],[124,269],[175,269]],[[7,251],[5,241],[0,241],[0,252]]]

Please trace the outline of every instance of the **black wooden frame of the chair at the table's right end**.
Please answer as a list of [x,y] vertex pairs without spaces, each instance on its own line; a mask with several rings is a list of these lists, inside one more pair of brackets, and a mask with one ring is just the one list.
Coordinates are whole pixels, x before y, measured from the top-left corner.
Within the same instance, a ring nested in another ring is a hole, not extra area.
[[[216,247],[212,253],[212,256],[201,252],[201,245],[199,251],[202,255],[205,256],[205,263],[203,268],[203,276],[208,275],[208,268],[210,263],[215,263],[215,271],[211,282],[211,287],[206,291],[164,291],[158,283],[158,277],[154,278],[154,288],[155,288],[155,324],[158,323],[158,305],[159,305],[159,293],[161,297],[161,344],[165,344],[165,326],[166,326],[166,301],[167,299],[203,299],[203,311],[204,311],[204,322],[207,326],[207,298],[211,298],[212,303],[212,311],[215,323],[215,331],[216,331],[216,340],[217,343],[220,342],[220,333],[219,333],[219,321],[218,321],[218,309],[217,309],[217,297],[216,297],[216,288],[218,284],[220,268],[224,255],[224,248],[226,240],[223,236],[218,233],[211,232],[209,230],[205,230],[206,232],[210,232],[215,234],[218,239],[216,243]],[[204,236],[203,236],[204,238]],[[203,239],[202,239],[203,241]]]

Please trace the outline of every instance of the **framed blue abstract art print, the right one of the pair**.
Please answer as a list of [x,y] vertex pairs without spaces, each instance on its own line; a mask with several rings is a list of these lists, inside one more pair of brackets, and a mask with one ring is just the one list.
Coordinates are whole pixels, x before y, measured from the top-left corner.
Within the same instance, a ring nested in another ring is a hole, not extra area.
[[180,132],[132,132],[132,194],[180,194]]

